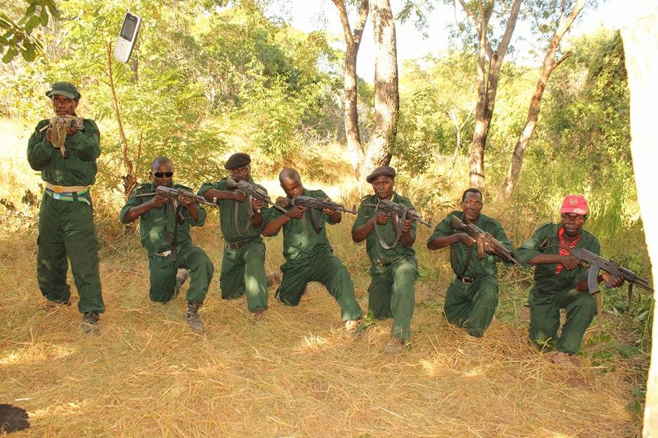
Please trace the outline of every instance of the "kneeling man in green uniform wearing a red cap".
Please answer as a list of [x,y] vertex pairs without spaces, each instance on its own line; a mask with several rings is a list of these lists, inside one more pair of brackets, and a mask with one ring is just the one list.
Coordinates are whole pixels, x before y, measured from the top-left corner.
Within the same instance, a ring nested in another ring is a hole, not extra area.
[[[517,250],[524,266],[536,265],[535,284],[530,292],[530,340],[539,347],[557,339],[557,353],[552,357],[561,365],[577,365],[572,355],[578,352],[583,335],[596,313],[596,300],[587,292],[587,270],[570,255],[574,248],[584,248],[599,255],[596,237],[583,230],[587,220],[587,202],[583,196],[569,195],[560,209],[561,223],[546,224]],[[598,281],[608,281],[603,272]],[[613,287],[622,285],[617,278]],[[560,327],[560,309],[567,320]]]

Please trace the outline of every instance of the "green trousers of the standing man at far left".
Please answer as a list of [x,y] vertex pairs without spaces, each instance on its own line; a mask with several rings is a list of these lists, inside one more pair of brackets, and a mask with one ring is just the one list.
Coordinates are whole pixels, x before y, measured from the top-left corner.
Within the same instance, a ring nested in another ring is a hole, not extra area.
[[[55,194],[55,196],[60,196]],[[39,209],[36,277],[41,294],[54,302],[66,302],[71,287],[66,283],[66,270],[71,261],[73,281],[80,301],[81,313],[103,313],[101,279],[98,273],[98,240],[94,229],[89,192],[53,198],[45,192]]]

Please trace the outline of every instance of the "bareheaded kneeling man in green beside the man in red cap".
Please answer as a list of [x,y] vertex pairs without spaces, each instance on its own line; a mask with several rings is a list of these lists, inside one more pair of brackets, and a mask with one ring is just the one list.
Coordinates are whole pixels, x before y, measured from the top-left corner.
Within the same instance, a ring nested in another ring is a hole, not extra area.
[[439,249],[450,246],[450,264],[454,277],[446,292],[443,312],[448,321],[463,326],[471,336],[480,337],[491,324],[493,313],[498,306],[498,279],[493,251],[485,244],[485,257],[472,255],[474,238],[450,227],[450,218],[456,216],[466,223],[493,235],[505,248],[511,250],[505,231],[497,220],[481,214],[482,193],[476,188],[466,190],[461,196],[462,211],[452,211],[443,219],[430,235],[427,247]]

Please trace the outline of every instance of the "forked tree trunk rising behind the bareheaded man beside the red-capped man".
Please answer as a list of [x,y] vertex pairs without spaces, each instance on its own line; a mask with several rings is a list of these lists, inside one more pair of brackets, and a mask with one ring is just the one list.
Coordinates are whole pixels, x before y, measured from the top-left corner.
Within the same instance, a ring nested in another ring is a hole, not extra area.
[[471,143],[469,179],[472,187],[482,188],[485,185],[485,146],[491,127],[493,107],[498,92],[498,79],[502,60],[516,27],[521,0],[513,0],[508,10],[501,15],[507,16],[504,32],[494,50],[491,46],[491,27],[489,21],[494,12],[494,0],[469,1],[456,0],[474,25],[478,36],[478,101],[475,107],[475,129]]

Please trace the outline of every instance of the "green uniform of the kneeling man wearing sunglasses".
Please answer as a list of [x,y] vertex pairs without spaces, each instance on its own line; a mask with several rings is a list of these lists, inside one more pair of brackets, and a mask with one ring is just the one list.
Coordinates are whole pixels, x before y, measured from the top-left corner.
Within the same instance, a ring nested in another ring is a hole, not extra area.
[[[191,191],[190,188],[180,184],[172,184],[173,188]],[[153,193],[156,191],[154,183],[145,183],[135,189],[132,196],[121,209],[121,222],[128,223],[125,215],[132,207],[150,201],[152,196],[138,198],[138,194]],[[208,259],[204,250],[192,244],[190,227],[202,227],[206,222],[206,211],[200,205],[199,220],[194,220],[185,207],[179,206],[183,222],[176,225],[177,214],[167,203],[160,209],[150,209],[139,216],[139,235],[144,248],[149,251],[149,272],[151,286],[149,296],[151,301],[167,302],[171,300],[176,290],[176,271],[178,268],[190,270],[190,286],[187,289],[186,300],[203,302],[208,293],[208,285],[212,279],[215,268]],[[172,260],[170,242],[175,236],[176,253],[178,259]]]

